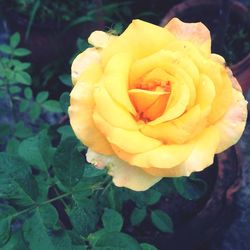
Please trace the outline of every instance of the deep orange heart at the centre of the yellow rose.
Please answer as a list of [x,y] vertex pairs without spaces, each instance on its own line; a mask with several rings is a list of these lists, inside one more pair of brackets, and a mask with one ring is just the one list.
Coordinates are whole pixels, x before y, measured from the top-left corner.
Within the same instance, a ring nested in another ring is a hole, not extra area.
[[128,93],[137,112],[136,119],[146,123],[161,116],[171,93],[170,82],[139,81],[134,86]]

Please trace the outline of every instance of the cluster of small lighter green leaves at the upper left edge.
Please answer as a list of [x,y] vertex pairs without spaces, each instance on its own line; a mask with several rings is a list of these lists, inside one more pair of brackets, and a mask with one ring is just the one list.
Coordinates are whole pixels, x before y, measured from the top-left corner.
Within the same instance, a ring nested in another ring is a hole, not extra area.
[[[19,43],[20,34],[15,33],[10,36],[9,43],[0,45],[0,100],[3,114],[0,128],[5,128],[5,138],[11,139],[8,145],[38,131],[39,126],[44,124],[42,117],[46,112],[63,113],[60,102],[48,99],[47,91],[41,91],[36,96],[33,93],[28,71],[31,63],[23,62],[23,57],[29,55],[30,51],[18,47]],[[0,145],[5,143],[2,140]]]

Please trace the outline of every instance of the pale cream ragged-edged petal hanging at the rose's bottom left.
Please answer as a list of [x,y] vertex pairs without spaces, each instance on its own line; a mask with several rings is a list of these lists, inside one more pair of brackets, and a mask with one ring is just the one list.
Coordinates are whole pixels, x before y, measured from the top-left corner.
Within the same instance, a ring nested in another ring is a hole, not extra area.
[[87,160],[98,168],[107,166],[108,174],[113,176],[113,182],[118,187],[145,191],[161,179],[161,177],[147,174],[142,169],[131,166],[115,156],[94,154],[89,150]]

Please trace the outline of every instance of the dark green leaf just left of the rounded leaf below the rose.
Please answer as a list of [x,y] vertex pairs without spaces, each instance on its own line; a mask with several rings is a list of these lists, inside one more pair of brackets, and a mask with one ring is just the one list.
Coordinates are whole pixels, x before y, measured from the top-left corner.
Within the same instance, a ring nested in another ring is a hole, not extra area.
[[87,236],[96,230],[99,221],[97,204],[93,200],[85,199],[68,211],[70,221],[78,234]]

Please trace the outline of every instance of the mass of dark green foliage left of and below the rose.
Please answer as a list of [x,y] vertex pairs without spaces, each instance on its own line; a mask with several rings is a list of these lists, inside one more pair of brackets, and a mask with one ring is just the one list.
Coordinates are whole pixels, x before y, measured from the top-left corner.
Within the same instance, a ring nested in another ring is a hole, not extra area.
[[[105,169],[86,162],[86,147],[69,126],[70,76],[58,79],[68,88],[59,100],[34,91],[31,63],[23,61],[30,51],[19,43],[15,33],[0,46],[0,249],[157,249],[128,228],[149,223],[152,238],[173,233],[174,221],[158,204],[173,192],[199,199],[203,181],[164,179],[145,192],[115,187]],[[84,46],[79,39],[79,50]]]

